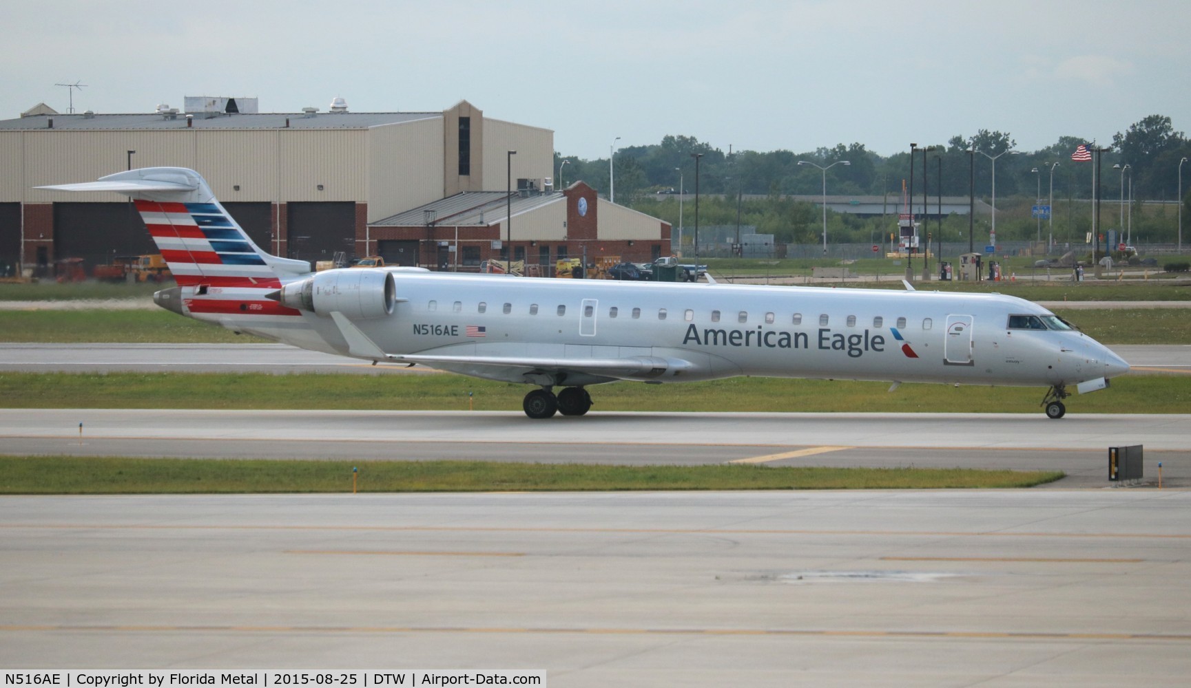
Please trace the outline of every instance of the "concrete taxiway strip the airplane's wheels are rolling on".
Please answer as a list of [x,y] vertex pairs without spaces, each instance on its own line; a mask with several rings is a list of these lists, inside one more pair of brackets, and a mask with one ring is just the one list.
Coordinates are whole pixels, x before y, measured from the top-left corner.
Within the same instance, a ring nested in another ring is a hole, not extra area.
[[[82,424],[80,432],[79,424]],[[0,454],[1061,470],[1106,487],[1108,448],[1191,487],[1191,414],[0,409]]]

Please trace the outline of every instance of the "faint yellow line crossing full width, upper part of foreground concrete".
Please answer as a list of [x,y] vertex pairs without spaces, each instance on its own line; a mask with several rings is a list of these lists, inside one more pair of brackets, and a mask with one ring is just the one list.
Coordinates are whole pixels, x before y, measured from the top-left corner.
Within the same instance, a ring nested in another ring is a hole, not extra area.
[[2,530],[145,530],[145,531],[341,531],[341,532],[481,532],[481,533],[644,533],[707,536],[878,536],[878,537],[993,537],[993,538],[1122,538],[1191,539],[1191,533],[1083,533],[1029,531],[878,531],[810,528],[581,528],[581,527],[500,527],[500,526],[381,526],[381,525],[191,525],[191,524],[13,524],[0,523]]

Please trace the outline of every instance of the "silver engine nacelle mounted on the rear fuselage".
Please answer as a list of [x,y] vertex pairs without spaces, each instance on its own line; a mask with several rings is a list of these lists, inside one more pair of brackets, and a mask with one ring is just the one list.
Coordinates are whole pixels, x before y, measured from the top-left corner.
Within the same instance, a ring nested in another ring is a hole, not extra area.
[[397,284],[387,270],[343,268],[289,282],[281,287],[280,301],[318,315],[338,311],[348,318],[384,318],[393,314]]

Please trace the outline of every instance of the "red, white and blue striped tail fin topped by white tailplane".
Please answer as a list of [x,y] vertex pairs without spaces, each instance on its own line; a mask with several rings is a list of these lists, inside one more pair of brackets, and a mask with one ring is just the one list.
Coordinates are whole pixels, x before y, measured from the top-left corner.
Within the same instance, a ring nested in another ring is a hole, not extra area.
[[180,287],[272,288],[281,279],[310,273],[310,263],[270,256],[227,213],[199,173],[143,168],[76,184],[38,187],[70,192],[116,192],[137,211]]

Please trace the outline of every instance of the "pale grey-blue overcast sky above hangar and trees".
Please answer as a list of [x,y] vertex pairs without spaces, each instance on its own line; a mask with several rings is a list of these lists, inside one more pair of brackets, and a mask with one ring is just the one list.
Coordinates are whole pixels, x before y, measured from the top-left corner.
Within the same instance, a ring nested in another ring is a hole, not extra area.
[[891,155],[979,129],[1021,150],[1187,129],[1186,0],[573,2],[6,0],[0,118],[46,102],[149,112],[185,95],[262,112],[441,111],[551,129],[606,157],[693,136],[728,150],[862,143]]

